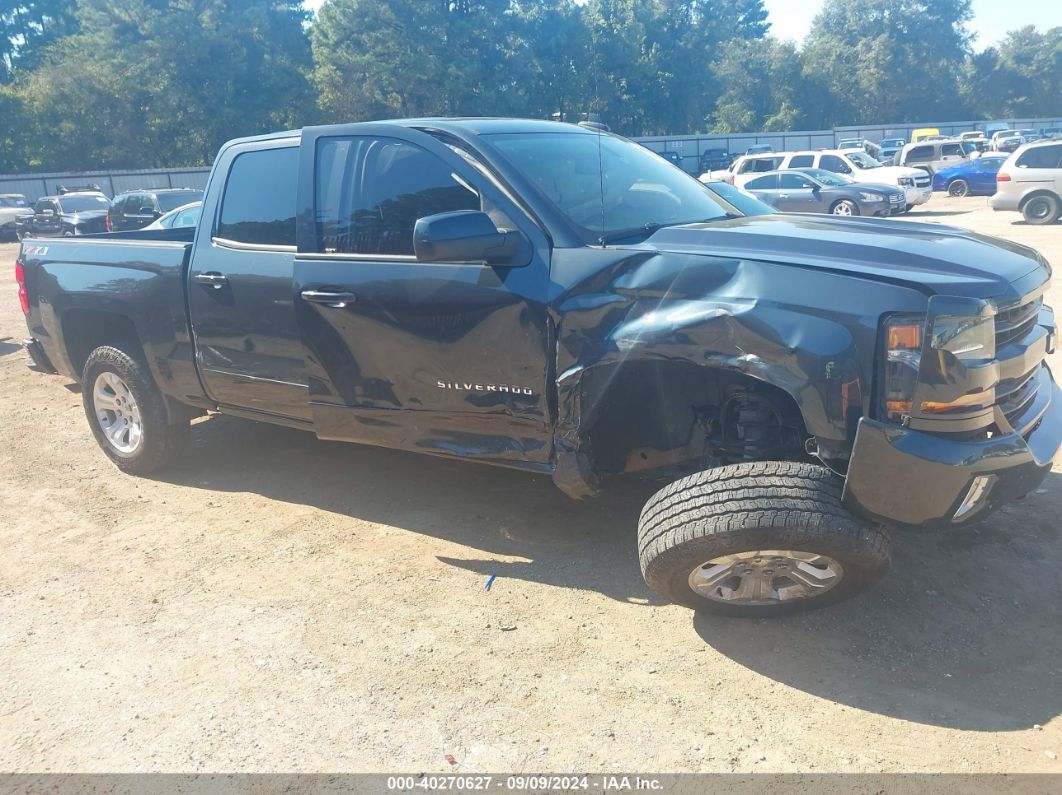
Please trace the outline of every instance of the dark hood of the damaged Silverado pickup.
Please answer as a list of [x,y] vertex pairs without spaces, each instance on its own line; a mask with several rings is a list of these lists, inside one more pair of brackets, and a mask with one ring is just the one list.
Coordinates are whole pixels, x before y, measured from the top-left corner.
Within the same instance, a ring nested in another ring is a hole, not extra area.
[[[877,171],[877,169],[874,169]],[[1049,271],[1035,250],[966,229],[907,221],[771,214],[660,229],[643,246],[661,252],[777,262],[902,283],[928,295],[1009,303],[1014,282]]]

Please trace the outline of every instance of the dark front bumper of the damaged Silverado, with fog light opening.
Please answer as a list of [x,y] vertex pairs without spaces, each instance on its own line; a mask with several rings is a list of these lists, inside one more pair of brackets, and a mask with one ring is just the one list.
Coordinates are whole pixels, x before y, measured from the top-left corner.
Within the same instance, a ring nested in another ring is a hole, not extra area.
[[[1024,497],[1050,471],[1062,450],[1062,390],[1043,365],[1038,391],[1039,424],[1017,433],[960,442],[869,417],[859,420],[844,481],[844,503],[855,513],[888,524],[955,525],[982,519],[999,505]],[[975,479],[986,491],[961,519],[956,512]]]

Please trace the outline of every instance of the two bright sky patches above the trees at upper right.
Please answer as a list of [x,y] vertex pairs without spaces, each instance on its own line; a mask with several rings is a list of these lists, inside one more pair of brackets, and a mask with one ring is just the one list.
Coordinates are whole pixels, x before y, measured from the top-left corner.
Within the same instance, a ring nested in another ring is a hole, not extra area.
[[[811,19],[822,7],[822,0],[765,0],[771,22],[771,33],[778,38],[802,41],[811,27]],[[1059,0],[974,0],[974,18],[970,30],[977,34],[974,49],[983,50],[1015,28],[1034,24],[1041,31],[1062,25],[1062,2]]]

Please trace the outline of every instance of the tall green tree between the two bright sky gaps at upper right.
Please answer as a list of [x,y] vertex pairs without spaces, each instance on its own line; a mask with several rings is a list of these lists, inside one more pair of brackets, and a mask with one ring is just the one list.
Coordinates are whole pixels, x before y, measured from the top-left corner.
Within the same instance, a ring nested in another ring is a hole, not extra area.
[[971,0],[826,0],[804,46],[834,100],[823,126],[961,116],[971,17]]

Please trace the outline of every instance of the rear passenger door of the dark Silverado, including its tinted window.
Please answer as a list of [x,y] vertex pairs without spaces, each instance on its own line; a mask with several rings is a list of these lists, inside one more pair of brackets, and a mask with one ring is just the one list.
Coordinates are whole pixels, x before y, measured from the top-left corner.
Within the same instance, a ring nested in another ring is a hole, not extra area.
[[298,138],[222,151],[192,250],[188,310],[211,399],[308,420],[292,304],[297,183]]

